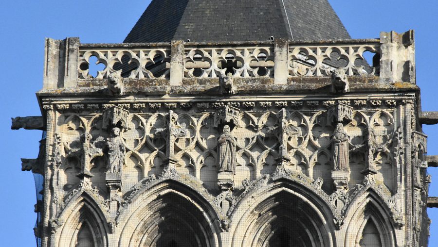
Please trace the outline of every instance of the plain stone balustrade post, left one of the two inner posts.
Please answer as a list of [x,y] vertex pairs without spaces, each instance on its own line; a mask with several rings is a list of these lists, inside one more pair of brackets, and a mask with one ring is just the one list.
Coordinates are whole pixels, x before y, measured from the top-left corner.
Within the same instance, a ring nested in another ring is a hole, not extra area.
[[183,84],[184,77],[184,43],[174,40],[170,43],[170,85]]

